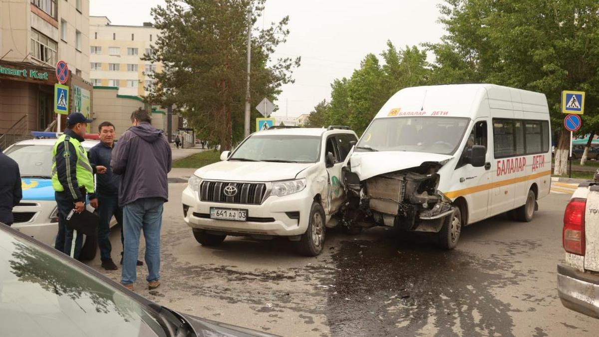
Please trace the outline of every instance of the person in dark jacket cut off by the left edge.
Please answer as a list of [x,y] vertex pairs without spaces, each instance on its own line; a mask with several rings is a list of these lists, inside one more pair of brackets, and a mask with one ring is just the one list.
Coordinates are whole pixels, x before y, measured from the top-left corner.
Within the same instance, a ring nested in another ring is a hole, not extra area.
[[23,197],[19,165],[0,151],[0,222],[13,224],[13,207]]

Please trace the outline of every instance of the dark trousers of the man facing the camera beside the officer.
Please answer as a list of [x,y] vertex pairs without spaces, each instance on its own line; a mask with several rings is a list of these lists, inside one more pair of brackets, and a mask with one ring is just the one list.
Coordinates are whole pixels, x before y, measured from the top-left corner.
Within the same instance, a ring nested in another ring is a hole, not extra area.
[[110,244],[110,219],[114,215],[116,221],[121,225],[121,242],[123,241],[123,209],[119,207],[119,195],[98,193],[98,246],[100,248],[100,259],[110,260],[112,245]]

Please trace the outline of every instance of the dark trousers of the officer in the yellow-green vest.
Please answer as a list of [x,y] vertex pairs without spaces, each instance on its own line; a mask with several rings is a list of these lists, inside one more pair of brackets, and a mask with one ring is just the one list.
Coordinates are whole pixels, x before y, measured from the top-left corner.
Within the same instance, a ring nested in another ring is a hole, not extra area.
[[[54,192],[56,206],[58,206],[58,234],[56,234],[56,242],[54,248],[71,256],[79,258],[81,246],[83,244],[83,233],[77,233],[75,238],[75,249],[71,251],[71,243],[74,236],[74,230],[66,226],[66,216],[74,208],[72,197],[68,192]],[[72,254],[71,254],[72,253]]]

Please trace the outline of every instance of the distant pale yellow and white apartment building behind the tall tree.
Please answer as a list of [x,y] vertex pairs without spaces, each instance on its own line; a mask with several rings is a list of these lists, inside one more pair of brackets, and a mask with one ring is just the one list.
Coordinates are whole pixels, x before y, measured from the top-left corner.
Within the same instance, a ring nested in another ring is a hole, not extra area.
[[151,23],[143,26],[112,25],[108,17],[90,17],[90,76],[94,86],[119,88],[119,95],[145,96],[162,71],[161,64],[141,61],[158,38]]

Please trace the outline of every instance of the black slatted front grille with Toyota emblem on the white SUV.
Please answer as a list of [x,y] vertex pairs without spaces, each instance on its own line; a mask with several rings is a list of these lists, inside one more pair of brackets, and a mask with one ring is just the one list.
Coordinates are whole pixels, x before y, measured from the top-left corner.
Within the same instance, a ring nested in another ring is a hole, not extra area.
[[[229,197],[225,194],[226,186],[235,186],[237,194]],[[234,204],[261,204],[266,194],[264,183],[250,182],[220,182],[204,181],[199,189],[201,201],[214,201],[217,203]]]

